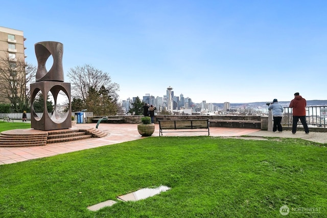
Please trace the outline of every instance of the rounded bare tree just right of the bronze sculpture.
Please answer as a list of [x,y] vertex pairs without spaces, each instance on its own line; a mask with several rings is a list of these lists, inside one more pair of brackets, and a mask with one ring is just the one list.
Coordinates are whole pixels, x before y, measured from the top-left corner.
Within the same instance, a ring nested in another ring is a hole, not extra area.
[[108,95],[113,100],[118,99],[117,92],[119,91],[119,84],[111,81],[108,73],[98,70],[89,64],[80,67],[71,68],[67,76],[72,84],[72,96],[80,98],[83,102],[86,101],[90,90],[92,92],[99,92],[104,86],[108,90]]

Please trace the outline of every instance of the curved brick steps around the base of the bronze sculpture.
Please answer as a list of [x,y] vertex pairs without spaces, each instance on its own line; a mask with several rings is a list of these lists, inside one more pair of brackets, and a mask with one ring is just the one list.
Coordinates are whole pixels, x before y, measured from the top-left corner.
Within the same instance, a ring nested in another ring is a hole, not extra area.
[[[19,129],[17,129],[17,132]],[[106,136],[106,132],[94,128],[86,127],[79,129],[58,129],[44,133],[0,133],[0,147],[21,147],[21,146],[42,146],[47,143],[59,143],[89,138],[101,138]]]

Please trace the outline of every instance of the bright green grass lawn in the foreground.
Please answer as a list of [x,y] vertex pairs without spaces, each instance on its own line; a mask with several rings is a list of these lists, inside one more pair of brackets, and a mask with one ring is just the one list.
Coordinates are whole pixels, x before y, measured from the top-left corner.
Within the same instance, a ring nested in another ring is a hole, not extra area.
[[[148,137],[0,165],[0,217],[327,217],[325,145]],[[159,185],[172,189],[87,209]],[[283,205],[288,216],[279,212]]]

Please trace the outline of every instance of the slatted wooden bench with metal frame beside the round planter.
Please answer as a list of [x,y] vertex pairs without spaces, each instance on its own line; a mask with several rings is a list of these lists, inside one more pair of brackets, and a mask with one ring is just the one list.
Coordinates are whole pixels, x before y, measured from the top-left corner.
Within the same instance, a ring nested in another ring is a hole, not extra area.
[[[175,133],[176,131],[162,131],[164,129],[207,129],[207,130],[197,130],[192,132],[209,132],[209,120],[158,120],[159,121],[159,136],[162,133]],[[191,131],[178,131],[178,132],[191,132]]]

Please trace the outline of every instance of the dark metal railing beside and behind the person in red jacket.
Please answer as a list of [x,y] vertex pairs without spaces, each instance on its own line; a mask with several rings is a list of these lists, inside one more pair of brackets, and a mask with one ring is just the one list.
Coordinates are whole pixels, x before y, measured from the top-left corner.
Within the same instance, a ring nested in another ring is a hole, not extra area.
[[[321,108],[326,108],[327,106],[306,106],[306,120],[307,124],[314,127],[327,127],[327,116],[322,115]],[[293,110],[291,107],[284,107],[284,115],[282,124],[284,126],[292,126],[293,123]],[[298,122],[301,126],[301,122]]]

